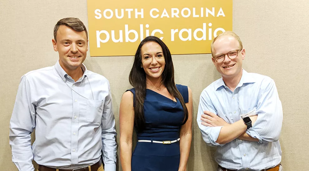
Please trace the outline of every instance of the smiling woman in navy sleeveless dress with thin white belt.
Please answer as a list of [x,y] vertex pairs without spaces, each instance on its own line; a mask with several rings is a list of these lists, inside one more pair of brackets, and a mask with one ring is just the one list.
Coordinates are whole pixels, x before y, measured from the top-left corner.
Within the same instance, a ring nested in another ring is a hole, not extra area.
[[[133,89],[121,98],[120,160],[123,171],[185,171],[192,138],[192,93],[176,85],[167,46],[141,41],[129,76]],[[132,154],[132,135],[138,142]]]

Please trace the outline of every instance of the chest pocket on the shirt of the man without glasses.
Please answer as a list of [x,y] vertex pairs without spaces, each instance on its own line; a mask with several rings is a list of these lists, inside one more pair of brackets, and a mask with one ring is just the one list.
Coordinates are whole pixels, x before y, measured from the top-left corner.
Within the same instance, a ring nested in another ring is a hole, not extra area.
[[101,124],[104,100],[87,100],[86,120],[90,123]]

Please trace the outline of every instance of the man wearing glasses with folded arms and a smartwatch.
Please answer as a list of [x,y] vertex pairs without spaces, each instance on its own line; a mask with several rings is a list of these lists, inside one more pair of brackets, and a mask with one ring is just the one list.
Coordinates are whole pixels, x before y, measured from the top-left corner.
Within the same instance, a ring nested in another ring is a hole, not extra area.
[[206,144],[217,146],[218,171],[281,171],[282,105],[275,82],[243,70],[246,52],[231,31],[213,39],[211,52],[222,78],[201,93],[197,122]]

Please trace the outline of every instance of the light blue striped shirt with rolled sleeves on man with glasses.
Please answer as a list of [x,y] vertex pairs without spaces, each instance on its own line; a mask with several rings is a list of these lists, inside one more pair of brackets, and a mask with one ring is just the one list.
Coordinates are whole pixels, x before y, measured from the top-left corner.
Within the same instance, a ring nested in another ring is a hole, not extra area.
[[[216,141],[222,127],[201,124],[201,115],[205,110],[232,124],[241,119],[240,114],[252,109],[256,109],[257,120],[246,133],[259,142],[235,139],[227,144],[218,144]],[[224,168],[260,171],[281,162],[278,139],[282,127],[282,105],[275,82],[268,76],[243,70],[234,92],[222,78],[214,81],[201,93],[197,122],[206,144],[217,146],[215,160]]]

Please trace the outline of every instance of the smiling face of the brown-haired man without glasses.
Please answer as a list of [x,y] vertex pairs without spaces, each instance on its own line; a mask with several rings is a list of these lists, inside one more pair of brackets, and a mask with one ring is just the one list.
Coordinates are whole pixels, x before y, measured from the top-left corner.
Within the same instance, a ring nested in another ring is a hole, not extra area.
[[[57,41],[56,41],[57,40]],[[57,30],[53,47],[59,53],[59,64],[68,73],[74,72],[86,59],[88,40],[85,31],[75,31],[66,25]]]

